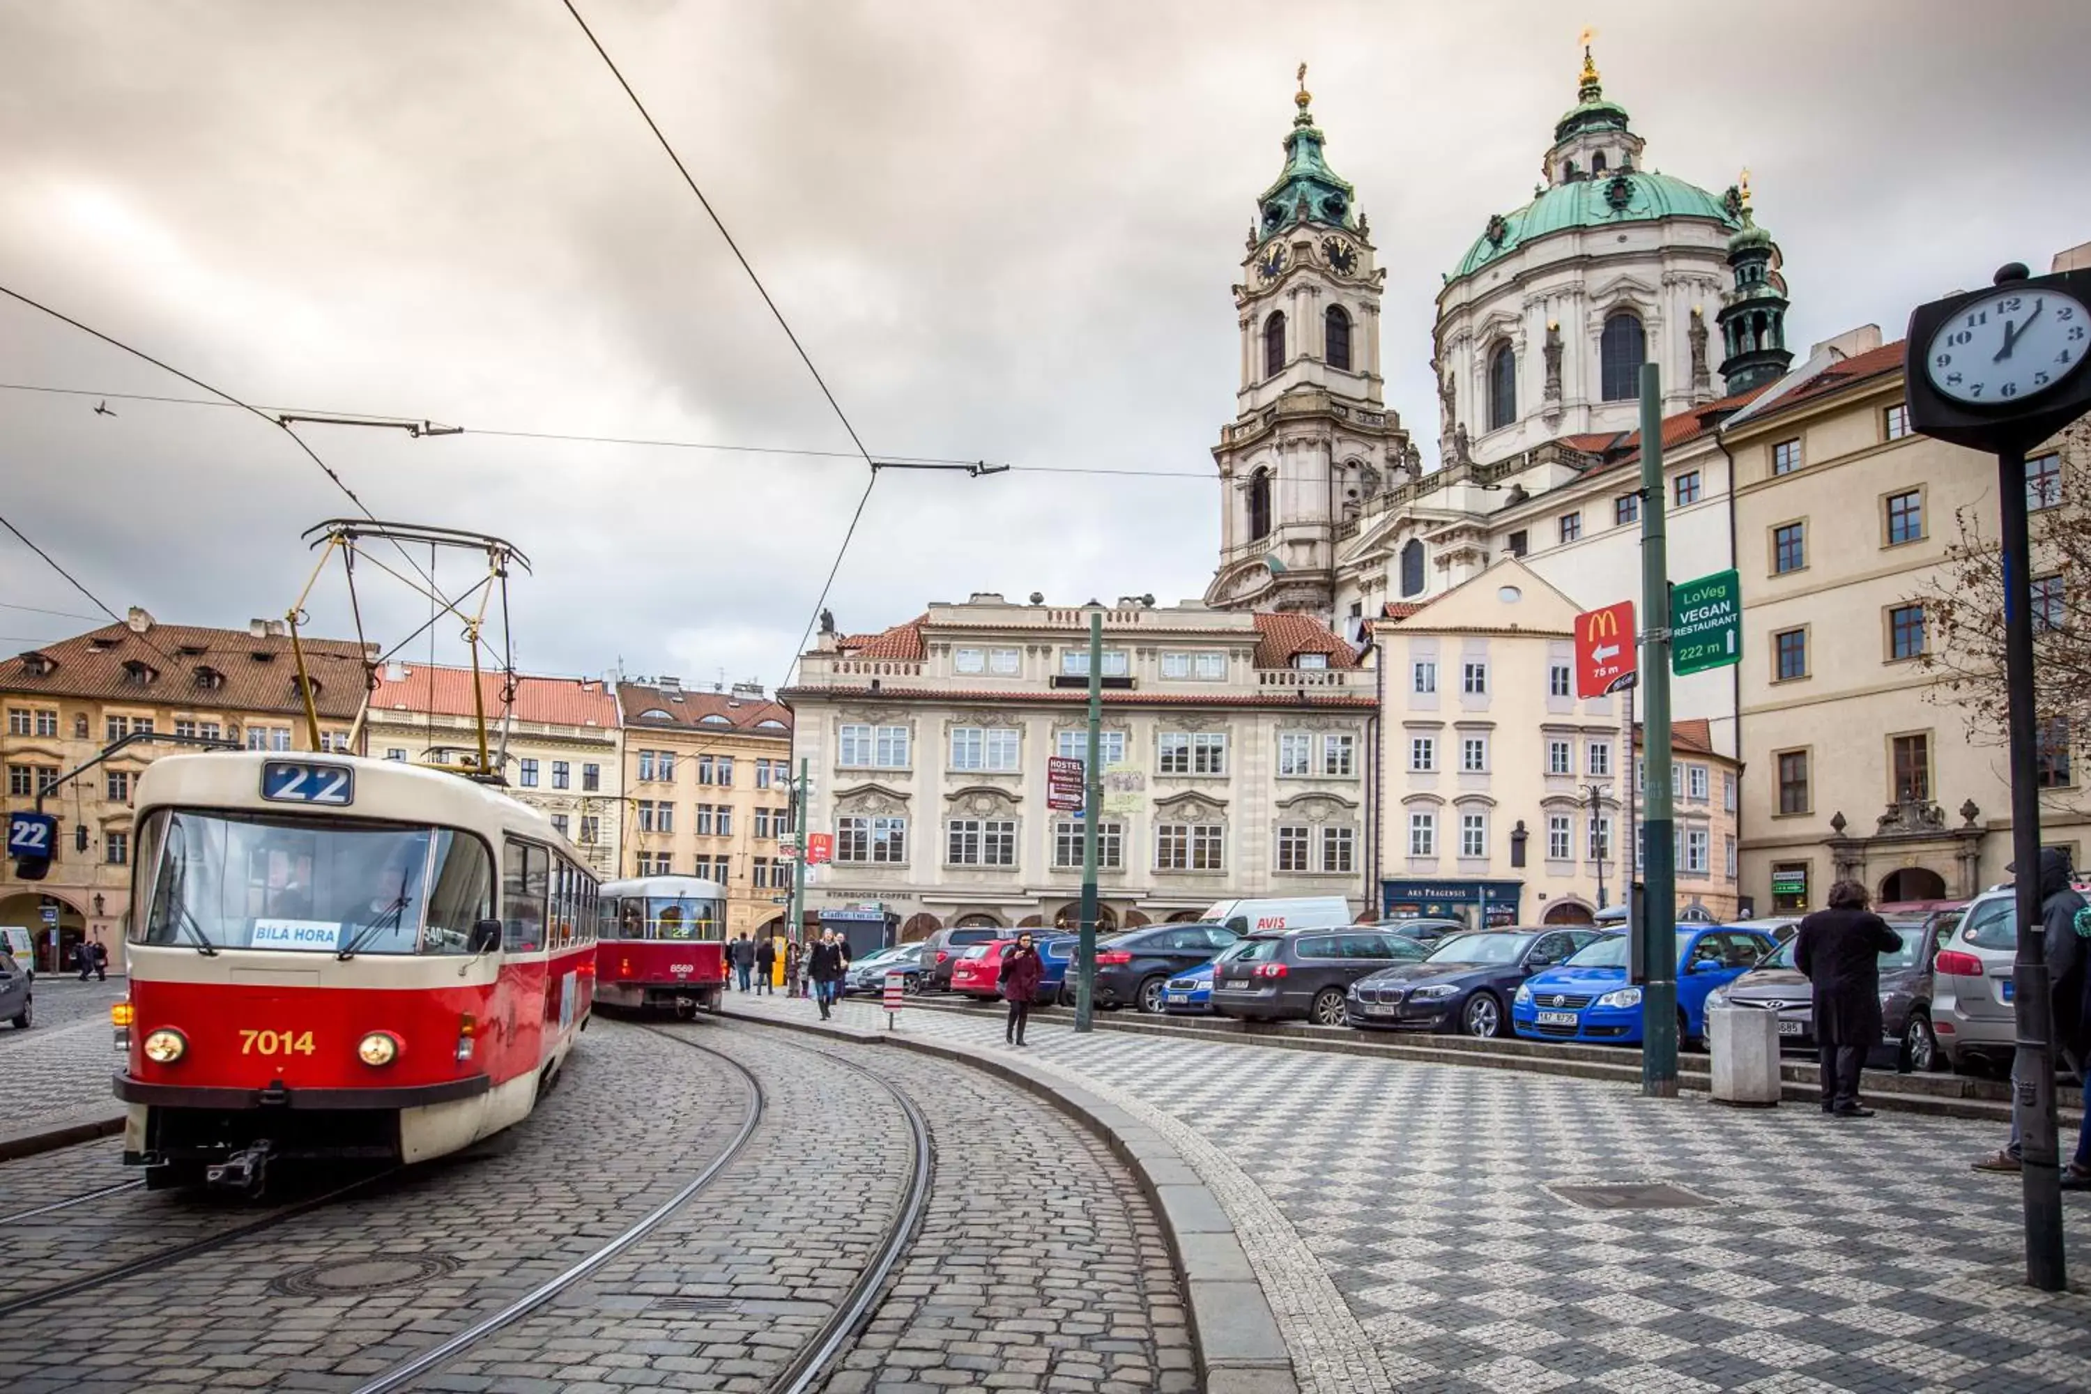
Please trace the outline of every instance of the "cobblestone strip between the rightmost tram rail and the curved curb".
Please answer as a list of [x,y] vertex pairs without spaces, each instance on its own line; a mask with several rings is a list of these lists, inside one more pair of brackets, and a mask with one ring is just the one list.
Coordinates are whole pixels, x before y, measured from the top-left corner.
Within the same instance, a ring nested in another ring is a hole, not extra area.
[[822,1049],[905,1089],[937,1137],[922,1233],[828,1394],[1196,1386],[1161,1225],[1087,1129],[964,1066]]

